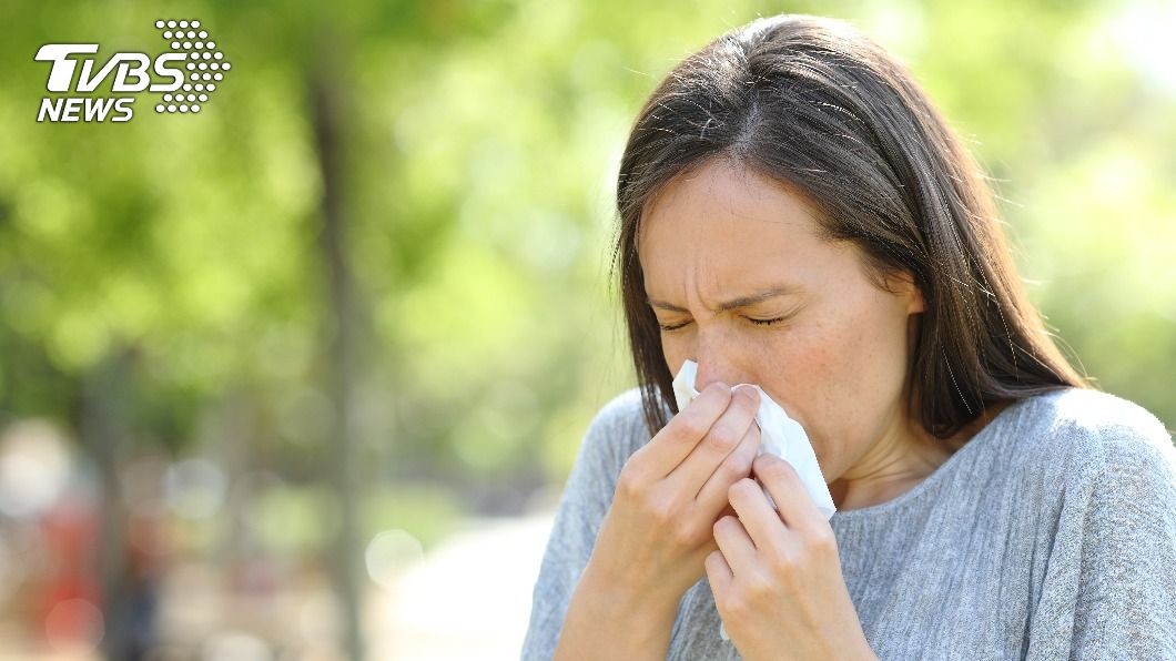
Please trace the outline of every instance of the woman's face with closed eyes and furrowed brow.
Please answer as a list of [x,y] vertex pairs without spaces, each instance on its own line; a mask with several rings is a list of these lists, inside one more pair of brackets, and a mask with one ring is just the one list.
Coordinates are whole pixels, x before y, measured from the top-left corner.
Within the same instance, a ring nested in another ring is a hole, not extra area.
[[918,440],[902,406],[923,311],[909,280],[891,282],[898,294],[876,288],[856,246],[815,235],[801,198],[727,159],[670,181],[642,223],[671,374],[693,359],[699,390],[762,387],[808,432],[830,482],[897,468]]

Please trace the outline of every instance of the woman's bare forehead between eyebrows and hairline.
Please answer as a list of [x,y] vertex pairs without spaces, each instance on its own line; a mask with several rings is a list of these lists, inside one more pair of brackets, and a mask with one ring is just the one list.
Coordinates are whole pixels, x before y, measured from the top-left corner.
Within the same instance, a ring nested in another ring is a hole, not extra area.
[[[806,200],[755,169],[716,159],[679,175],[647,205],[637,252],[647,285],[704,271],[716,285],[800,275],[836,248],[817,238]],[[650,281],[653,280],[653,281]]]

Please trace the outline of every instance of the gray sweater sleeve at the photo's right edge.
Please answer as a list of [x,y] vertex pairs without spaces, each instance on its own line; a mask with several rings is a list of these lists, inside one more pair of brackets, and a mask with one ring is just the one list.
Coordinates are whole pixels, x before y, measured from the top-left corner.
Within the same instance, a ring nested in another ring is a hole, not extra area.
[[1142,408],[1056,432],[1061,510],[1028,659],[1176,660],[1176,449]]

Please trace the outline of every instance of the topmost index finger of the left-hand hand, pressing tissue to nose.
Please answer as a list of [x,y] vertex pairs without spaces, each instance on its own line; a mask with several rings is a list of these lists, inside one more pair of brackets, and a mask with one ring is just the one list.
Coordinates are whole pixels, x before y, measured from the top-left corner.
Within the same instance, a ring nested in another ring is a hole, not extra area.
[[731,401],[730,387],[714,382],[629,459],[661,480],[669,475],[707,436]]

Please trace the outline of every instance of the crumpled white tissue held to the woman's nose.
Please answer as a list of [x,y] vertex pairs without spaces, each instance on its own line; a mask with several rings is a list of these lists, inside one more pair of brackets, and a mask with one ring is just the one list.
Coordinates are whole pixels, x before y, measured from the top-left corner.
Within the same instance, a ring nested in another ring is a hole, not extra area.
[[[674,398],[677,400],[679,412],[699,396],[699,390],[694,389],[697,372],[699,363],[687,360],[682,363],[677,376],[674,378]],[[790,463],[800,474],[809,498],[828,520],[837,508],[833,505],[829,486],[816,462],[816,453],[813,452],[813,443],[809,442],[804,428],[801,427],[800,422],[789,418],[783,407],[773,401],[763,392],[763,388],[754,383],[739,383],[731,389],[734,390],[739,386],[751,386],[760,390],[760,410],[755,414],[755,421],[760,426],[760,449],[756,452],[756,456],[770,453]],[[776,506],[776,501],[771,499],[771,494],[766,487],[763,495],[768,496],[768,502],[779,512],[780,507]],[[730,640],[727,629],[722,626],[719,627],[719,635],[723,640]]]

